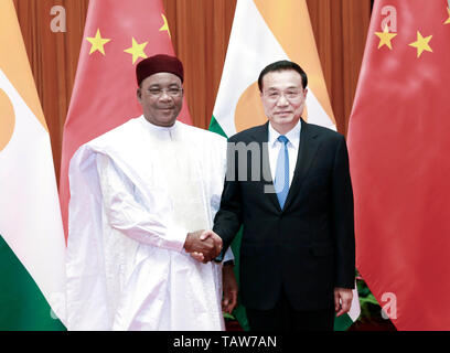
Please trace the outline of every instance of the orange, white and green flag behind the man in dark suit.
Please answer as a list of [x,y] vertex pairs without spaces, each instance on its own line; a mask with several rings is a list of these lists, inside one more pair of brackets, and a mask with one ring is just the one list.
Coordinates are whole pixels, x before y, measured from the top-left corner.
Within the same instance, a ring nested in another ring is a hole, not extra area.
[[[308,74],[303,119],[335,130],[335,121],[320,65],[314,34],[304,0],[238,0],[210,130],[231,137],[267,121],[259,97],[258,76],[268,64],[290,60]],[[238,278],[240,233],[232,244]],[[234,314],[248,329],[245,309]],[[335,321],[347,329],[360,315],[354,290],[350,314]]]

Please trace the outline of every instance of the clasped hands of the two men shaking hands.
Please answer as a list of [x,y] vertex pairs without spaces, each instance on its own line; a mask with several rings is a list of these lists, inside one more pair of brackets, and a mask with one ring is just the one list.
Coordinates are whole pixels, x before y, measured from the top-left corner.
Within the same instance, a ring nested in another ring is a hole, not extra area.
[[188,233],[184,249],[196,260],[206,264],[222,252],[222,238],[213,231]]

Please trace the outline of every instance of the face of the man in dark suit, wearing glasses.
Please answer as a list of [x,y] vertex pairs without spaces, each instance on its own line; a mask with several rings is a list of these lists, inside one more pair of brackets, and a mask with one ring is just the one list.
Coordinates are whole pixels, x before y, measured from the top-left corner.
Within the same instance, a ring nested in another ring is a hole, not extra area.
[[299,121],[307,93],[300,74],[293,69],[270,72],[262,77],[264,111],[278,132],[285,135]]

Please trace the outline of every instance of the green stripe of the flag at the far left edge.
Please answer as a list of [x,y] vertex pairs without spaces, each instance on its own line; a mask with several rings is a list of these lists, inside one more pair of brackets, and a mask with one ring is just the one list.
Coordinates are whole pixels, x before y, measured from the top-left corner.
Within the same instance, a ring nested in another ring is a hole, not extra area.
[[0,235],[0,331],[63,331],[51,308]]

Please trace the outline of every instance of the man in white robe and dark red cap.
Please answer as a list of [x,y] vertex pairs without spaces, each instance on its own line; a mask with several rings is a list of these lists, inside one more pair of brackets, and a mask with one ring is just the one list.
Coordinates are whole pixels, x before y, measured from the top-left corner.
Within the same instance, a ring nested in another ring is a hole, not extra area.
[[147,58],[137,76],[143,115],[71,161],[67,329],[224,330],[222,279],[229,312],[233,267],[191,254],[211,260],[222,249],[219,238],[201,235],[219,206],[226,140],[176,121],[176,58]]

